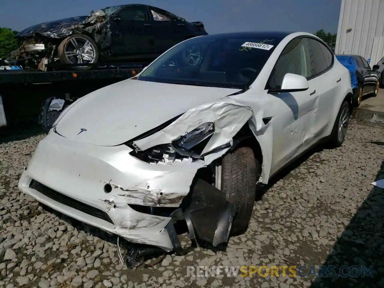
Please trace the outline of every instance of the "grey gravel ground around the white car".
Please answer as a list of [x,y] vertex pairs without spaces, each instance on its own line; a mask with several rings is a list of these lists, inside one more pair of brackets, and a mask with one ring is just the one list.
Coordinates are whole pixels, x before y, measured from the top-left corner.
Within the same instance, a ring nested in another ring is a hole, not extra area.
[[[36,132],[36,131],[35,131]],[[17,189],[44,134],[0,142],[0,287],[383,287],[384,126],[352,120],[338,149],[316,149],[260,192],[247,233],[226,252],[197,248],[127,269],[116,237],[43,207]],[[31,133],[28,130],[28,133]],[[376,265],[374,277],[193,277],[188,265]]]

